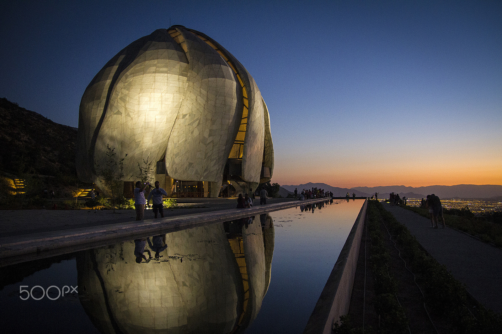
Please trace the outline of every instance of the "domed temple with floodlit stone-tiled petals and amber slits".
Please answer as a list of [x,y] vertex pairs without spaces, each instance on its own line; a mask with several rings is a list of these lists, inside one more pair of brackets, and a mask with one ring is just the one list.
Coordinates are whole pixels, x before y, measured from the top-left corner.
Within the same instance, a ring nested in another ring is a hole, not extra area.
[[255,190],[274,168],[269,112],[253,77],[217,42],[182,26],[131,43],[87,86],[76,153],[82,181],[103,188],[95,162],[107,145],[127,154],[122,181],[134,182],[148,157],[162,188],[188,187],[194,197],[217,197],[230,184],[235,193]]

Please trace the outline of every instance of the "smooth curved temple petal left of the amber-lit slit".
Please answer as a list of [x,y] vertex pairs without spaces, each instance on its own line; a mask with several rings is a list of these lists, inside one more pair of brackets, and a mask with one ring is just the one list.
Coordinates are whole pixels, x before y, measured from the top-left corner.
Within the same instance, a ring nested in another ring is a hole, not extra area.
[[221,182],[237,133],[242,102],[232,69],[201,39],[182,28],[189,62],[187,89],[166,149],[174,179]]

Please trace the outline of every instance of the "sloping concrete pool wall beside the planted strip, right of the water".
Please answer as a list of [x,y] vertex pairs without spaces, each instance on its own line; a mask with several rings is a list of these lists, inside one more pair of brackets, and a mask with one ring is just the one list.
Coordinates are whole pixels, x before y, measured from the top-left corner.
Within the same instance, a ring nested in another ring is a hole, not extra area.
[[333,322],[340,315],[348,313],[367,203],[366,198],[310,315],[304,334],[331,333]]

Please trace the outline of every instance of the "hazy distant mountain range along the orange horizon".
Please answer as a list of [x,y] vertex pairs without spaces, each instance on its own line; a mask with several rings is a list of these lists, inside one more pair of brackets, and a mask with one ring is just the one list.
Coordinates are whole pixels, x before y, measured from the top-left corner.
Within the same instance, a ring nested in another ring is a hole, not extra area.
[[332,187],[325,183],[307,183],[298,186],[281,186],[282,188],[293,192],[295,188],[301,193],[302,189],[324,189],[333,192],[333,196],[342,197],[345,194],[355,193],[356,196],[370,197],[374,193],[379,193],[380,199],[389,198],[390,193],[397,193],[399,196],[408,198],[425,198],[426,195],[435,194],[440,198],[462,198],[462,199],[491,199],[494,201],[500,200],[502,197],[502,186],[498,185],[456,185],[456,186],[428,186],[428,187],[406,187],[406,186],[385,186],[385,187],[354,187],[354,188],[338,188]]

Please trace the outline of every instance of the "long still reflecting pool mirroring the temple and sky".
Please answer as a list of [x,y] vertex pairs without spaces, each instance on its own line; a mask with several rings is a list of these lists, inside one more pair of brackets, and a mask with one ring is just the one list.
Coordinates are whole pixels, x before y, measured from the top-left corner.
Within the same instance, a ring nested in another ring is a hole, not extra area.
[[302,332],[363,202],[298,206],[1,268],[0,328]]

